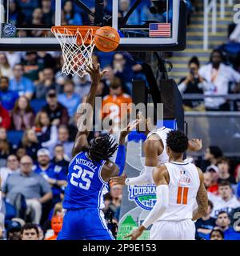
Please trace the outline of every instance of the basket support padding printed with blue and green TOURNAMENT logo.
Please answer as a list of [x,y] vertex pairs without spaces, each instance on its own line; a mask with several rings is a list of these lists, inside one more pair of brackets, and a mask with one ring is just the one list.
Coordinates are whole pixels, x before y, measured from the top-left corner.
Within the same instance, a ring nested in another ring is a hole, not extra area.
[[[175,120],[164,120],[163,124],[167,128],[176,129]],[[125,166],[125,173],[128,178],[137,177],[144,170],[145,156],[143,154],[143,143],[145,139],[140,136],[138,137],[138,134],[129,136]],[[141,226],[146,216],[150,213],[150,210],[153,209],[155,202],[156,186],[154,184],[146,186],[124,186],[117,240],[130,240],[130,238],[124,237],[138,226]],[[139,239],[149,240],[150,228],[145,230]]]

